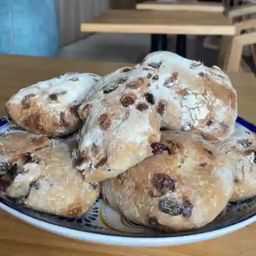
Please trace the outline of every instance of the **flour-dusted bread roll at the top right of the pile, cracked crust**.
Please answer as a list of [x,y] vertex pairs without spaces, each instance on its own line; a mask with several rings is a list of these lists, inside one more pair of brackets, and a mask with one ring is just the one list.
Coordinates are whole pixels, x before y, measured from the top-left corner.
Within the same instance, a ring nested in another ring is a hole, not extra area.
[[[162,117],[162,126],[188,131],[198,129],[212,141],[224,140],[234,131],[237,93],[218,67],[170,52],[149,54],[136,69],[149,77],[147,92]],[[131,72],[130,79],[138,79]],[[145,93],[145,92],[144,92]]]

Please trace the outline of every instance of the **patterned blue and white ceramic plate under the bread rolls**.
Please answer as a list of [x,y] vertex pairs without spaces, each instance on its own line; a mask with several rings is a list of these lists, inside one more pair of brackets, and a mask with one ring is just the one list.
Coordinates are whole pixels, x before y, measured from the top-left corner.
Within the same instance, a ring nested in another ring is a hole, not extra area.
[[[244,125],[256,132],[256,127],[242,118],[237,125]],[[0,133],[21,130],[0,120]],[[67,218],[44,214],[29,209],[11,199],[0,199],[0,207],[11,215],[36,227],[74,239],[115,245],[164,246],[203,241],[238,230],[256,220],[256,197],[246,201],[230,203],[214,221],[203,228],[175,233],[155,233],[131,223],[98,198],[94,206],[82,217]]]

